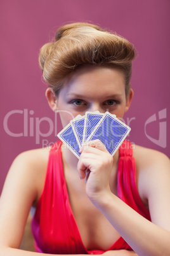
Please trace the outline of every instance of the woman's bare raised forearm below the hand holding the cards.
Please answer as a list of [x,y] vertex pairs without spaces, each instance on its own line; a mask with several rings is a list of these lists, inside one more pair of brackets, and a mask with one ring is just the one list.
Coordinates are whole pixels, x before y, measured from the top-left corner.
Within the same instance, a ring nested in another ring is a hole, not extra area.
[[170,255],[170,232],[136,213],[114,194],[92,200],[138,255]]

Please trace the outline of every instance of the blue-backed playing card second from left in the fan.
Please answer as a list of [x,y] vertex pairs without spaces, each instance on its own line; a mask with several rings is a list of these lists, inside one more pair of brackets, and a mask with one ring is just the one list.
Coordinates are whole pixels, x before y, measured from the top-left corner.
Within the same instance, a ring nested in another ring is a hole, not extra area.
[[79,148],[81,148],[82,146],[84,118],[85,116],[77,115],[77,117],[70,121],[72,129],[74,131],[75,138],[77,139],[77,143],[79,144]]

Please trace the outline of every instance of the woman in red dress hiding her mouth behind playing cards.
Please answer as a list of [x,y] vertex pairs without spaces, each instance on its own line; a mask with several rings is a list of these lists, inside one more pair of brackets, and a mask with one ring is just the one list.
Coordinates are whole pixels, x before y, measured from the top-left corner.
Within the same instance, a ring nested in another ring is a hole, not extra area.
[[[63,127],[86,111],[122,118],[133,98],[133,59],[129,41],[96,25],[61,27],[39,63]],[[114,157],[98,140],[82,147],[79,160],[61,141],[23,152],[1,196],[0,252],[37,255],[18,249],[32,207],[37,252],[170,255],[169,183],[169,159],[128,141]]]

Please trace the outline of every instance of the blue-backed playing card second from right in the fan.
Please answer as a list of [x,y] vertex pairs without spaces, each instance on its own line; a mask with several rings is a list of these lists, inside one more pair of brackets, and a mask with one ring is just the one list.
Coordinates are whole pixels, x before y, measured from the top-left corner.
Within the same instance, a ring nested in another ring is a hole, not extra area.
[[85,119],[84,119],[84,131],[83,131],[83,139],[82,143],[85,143],[88,139],[89,135],[93,130],[95,129],[98,122],[103,117],[103,113],[100,113],[99,111],[95,112],[86,112]]

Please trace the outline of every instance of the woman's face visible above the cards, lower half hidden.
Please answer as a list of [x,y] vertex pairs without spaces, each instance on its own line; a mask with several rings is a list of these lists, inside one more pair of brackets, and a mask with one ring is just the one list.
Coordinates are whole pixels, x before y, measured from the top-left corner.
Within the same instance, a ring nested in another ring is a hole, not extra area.
[[121,119],[129,108],[132,96],[131,91],[126,99],[121,71],[86,65],[67,78],[58,94],[56,107],[63,127],[86,111],[109,111]]

